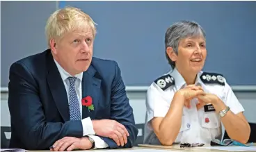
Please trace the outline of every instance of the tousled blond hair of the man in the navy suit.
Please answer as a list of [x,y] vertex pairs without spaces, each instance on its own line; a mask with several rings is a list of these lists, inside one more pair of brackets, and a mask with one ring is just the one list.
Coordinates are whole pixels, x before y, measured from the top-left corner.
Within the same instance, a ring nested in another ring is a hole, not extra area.
[[67,32],[72,32],[76,29],[89,27],[93,32],[93,37],[96,35],[95,22],[89,15],[81,11],[79,8],[65,7],[56,10],[51,14],[45,26],[45,34],[47,37],[48,47],[50,40],[61,40]]

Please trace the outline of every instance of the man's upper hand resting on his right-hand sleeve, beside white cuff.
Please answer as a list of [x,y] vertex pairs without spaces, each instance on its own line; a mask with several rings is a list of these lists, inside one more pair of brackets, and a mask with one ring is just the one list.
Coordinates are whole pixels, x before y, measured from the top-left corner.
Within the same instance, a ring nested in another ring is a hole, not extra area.
[[96,135],[109,137],[114,140],[118,146],[124,146],[127,143],[127,136],[129,136],[127,129],[115,120],[93,120],[93,129]]

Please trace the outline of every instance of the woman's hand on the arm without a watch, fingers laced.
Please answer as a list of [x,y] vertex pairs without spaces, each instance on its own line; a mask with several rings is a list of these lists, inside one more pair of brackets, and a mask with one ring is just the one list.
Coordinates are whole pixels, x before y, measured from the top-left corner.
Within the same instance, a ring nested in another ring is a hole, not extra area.
[[190,105],[191,99],[197,97],[198,95],[205,94],[201,86],[195,86],[195,85],[188,85],[183,89],[179,90],[177,93],[184,97],[185,99],[184,105],[187,108],[191,108],[191,105]]

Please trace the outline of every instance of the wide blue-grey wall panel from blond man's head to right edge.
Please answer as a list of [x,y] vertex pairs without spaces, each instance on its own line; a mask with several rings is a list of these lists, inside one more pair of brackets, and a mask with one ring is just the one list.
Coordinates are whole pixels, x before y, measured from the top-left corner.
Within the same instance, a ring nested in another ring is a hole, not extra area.
[[95,56],[117,60],[127,85],[150,85],[169,70],[164,34],[170,24],[195,20],[207,33],[205,71],[231,85],[256,85],[256,1],[60,1],[98,24]]

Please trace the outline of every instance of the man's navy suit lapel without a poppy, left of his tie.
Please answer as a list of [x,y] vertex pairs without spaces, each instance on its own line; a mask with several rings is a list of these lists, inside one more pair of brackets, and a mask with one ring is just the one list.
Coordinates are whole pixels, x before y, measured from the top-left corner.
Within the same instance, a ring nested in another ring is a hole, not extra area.
[[70,120],[70,114],[67,101],[67,92],[65,90],[61,74],[56,67],[54,58],[52,57],[51,53],[49,53],[47,61],[49,69],[49,73],[47,75],[47,82],[49,85],[49,89],[51,90],[51,94],[54,97],[58,112],[60,112],[61,117],[63,117],[64,121],[68,121]]

